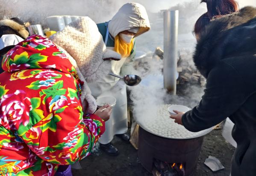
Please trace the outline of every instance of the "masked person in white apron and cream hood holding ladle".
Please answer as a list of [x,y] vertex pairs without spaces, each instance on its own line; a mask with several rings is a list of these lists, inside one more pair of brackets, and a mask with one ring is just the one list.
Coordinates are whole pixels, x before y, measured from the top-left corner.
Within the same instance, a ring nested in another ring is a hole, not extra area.
[[[111,61],[112,73],[119,75],[127,57],[135,56],[134,38],[150,29],[146,9],[138,3],[124,4],[112,20],[97,26],[107,48],[122,56],[119,61]],[[106,122],[106,131],[99,142],[103,151],[110,155],[118,155],[118,149],[111,144],[114,135],[129,142],[129,136],[125,134],[128,129],[126,85],[123,80],[106,75],[95,83],[89,84],[89,87],[95,98],[112,96],[117,100],[110,120]]]

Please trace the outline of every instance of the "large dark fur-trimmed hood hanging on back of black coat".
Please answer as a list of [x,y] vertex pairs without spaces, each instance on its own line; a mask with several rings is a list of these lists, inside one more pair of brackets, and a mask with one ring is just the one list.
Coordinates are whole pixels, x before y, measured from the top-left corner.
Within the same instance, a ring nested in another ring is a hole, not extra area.
[[216,18],[200,35],[194,63],[207,78],[221,60],[245,53],[256,54],[256,8],[244,7],[237,13]]

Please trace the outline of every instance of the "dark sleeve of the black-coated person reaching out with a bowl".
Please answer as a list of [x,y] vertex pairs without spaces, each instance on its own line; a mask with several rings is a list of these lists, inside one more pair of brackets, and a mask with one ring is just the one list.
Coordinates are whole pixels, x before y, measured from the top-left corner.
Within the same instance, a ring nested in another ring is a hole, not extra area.
[[182,116],[182,124],[193,132],[218,125],[244,104],[251,94],[249,87],[235,68],[219,64],[208,75],[199,105]]

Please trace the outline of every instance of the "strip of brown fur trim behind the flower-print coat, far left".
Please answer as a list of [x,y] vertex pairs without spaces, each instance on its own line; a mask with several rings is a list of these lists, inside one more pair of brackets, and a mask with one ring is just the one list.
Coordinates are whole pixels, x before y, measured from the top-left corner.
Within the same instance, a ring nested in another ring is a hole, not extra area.
[[29,37],[29,32],[26,30],[25,26],[22,26],[21,24],[15,22],[13,20],[9,20],[9,19],[1,20],[0,27],[1,26],[9,26],[13,30],[17,31],[18,34],[20,34],[20,37],[22,37],[24,39]]

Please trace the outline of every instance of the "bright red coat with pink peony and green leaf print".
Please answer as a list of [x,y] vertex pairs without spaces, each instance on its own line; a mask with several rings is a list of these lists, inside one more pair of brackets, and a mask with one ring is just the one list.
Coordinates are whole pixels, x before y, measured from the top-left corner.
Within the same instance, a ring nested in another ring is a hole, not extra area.
[[0,174],[52,176],[89,155],[105,131],[83,115],[81,82],[66,55],[33,35],[3,58],[0,74]]

